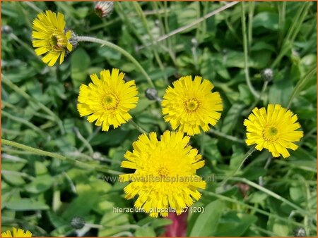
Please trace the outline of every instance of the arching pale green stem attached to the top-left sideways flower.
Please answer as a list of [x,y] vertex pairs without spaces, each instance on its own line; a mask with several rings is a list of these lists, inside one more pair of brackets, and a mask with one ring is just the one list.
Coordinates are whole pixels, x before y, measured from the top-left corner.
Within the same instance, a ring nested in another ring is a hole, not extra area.
[[103,39],[98,39],[98,38],[95,38],[95,37],[78,36],[78,37],[76,37],[76,39],[78,40],[78,42],[93,42],[93,43],[102,44],[102,46],[110,47],[111,49],[114,49],[115,51],[118,51],[119,53],[123,54],[132,63],[134,63],[134,65],[136,65],[137,68],[139,68],[141,73],[146,77],[146,80],[151,85],[151,87],[155,88],[155,85],[153,84],[153,81],[151,81],[151,77],[149,77],[149,75],[146,73],[146,71],[143,69],[143,67],[140,65],[140,63],[138,63],[138,61],[136,61],[134,56],[131,56],[131,54],[129,54],[127,51],[125,51],[121,47],[117,46],[116,44],[112,44],[111,42],[107,42],[107,41],[105,41]]

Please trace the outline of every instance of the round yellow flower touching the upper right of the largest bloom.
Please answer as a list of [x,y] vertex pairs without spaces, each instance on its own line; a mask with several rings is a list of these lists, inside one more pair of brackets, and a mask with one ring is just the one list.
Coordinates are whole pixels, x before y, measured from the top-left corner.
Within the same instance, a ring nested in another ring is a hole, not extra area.
[[189,135],[199,134],[200,127],[204,132],[210,129],[209,124],[216,125],[223,110],[222,99],[218,92],[211,92],[213,84],[202,77],[185,76],[173,82],[165,90],[162,106],[166,122],[173,130]]

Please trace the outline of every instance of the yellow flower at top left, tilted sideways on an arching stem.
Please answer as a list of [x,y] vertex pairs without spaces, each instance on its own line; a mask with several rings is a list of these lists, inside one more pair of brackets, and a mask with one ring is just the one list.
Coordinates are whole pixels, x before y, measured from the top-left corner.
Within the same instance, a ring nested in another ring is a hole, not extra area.
[[62,13],[53,13],[45,11],[39,13],[33,21],[32,37],[35,54],[41,56],[46,54],[42,61],[49,66],[53,66],[59,58],[59,64],[63,63],[66,53],[73,49],[69,42],[71,30],[66,31],[64,15]]

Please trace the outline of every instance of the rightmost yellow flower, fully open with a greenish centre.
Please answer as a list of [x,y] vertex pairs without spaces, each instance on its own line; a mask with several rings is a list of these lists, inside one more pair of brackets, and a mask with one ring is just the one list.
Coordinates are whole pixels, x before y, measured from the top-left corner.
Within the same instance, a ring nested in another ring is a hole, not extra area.
[[257,144],[259,151],[268,149],[273,157],[290,156],[287,149],[298,148],[293,142],[299,142],[303,132],[298,130],[298,118],[290,110],[278,104],[269,104],[266,108],[254,108],[253,113],[244,121],[247,130],[247,145]]

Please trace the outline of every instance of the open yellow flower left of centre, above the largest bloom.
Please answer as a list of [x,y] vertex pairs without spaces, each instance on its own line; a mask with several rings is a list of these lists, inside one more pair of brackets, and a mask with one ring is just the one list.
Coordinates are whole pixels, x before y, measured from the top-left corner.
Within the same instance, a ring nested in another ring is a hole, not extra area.
[[134,80],[124,81],[124,73],[117,68],[102,70],[100,79],[96,74],[90,75],[93,83],[81,84],[78,95],[77,109],[81,116],[88,115],[87,120],[95,125],[102,125],[103,131],[108,131],[110,125],[114,128],[126,123],[131,115],[128,113],[136,108],[138,90]]

